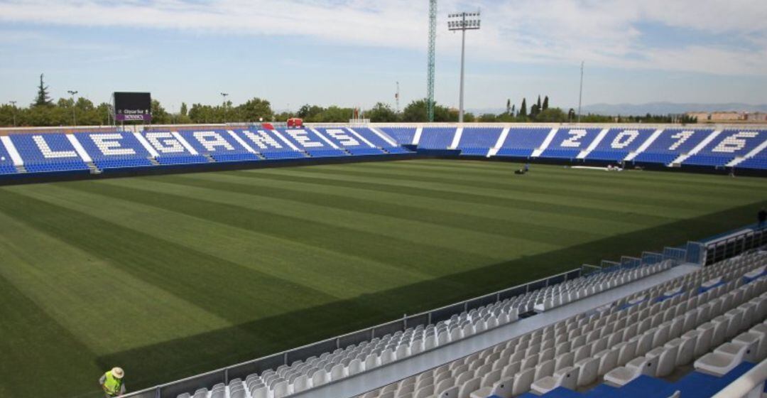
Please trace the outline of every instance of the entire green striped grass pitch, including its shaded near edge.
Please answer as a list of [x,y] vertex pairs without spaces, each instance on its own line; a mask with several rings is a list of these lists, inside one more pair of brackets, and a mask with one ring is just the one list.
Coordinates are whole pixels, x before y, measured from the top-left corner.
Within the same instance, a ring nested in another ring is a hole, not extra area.
[[0,396],[137,390],[753,222],[767,180],[411,160],[0,187]]

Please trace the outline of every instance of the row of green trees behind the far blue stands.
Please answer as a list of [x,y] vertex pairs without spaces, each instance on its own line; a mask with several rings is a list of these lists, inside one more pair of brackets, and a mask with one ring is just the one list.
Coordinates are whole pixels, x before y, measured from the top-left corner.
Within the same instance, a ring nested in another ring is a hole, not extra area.
[[[0,105],[0,126],[69,126],[77,125],[107,125],[111,120],[112,108],[110,104],[102,103],[94,106],[91,100],[79,97],[61,98],[54,102],[48,94],[48,86],[44,84],[44,76],[40,75],[38,92],[35,95],[35,101],[28,107],[16,107],[15,104]],[[345,123],[353,117],[358,116],[375,123],[417,123],[426,121],[426,99],[414,100],[405,107],[402,112],[397,113],[388,104],[377,103],[368,110],[363,110],[359,115],[355,115],[354,108],[350,107],[321,107],[318,105],[306,104],[295,113],[282,112],[275,113],[268,100],[261,98],[252,98],[243,104],[234,105],[232,101],[227,101],[219,105],[192,104],[188,107],[186,103],[181,104],[177,113],[168,112],[160,101],[152,100],[152,123],[154,124],[184,124],[184,123],[225,123],[225,122],[248,122],[257,123],[259,121],[285,121],[290,117],[300,117],[308,123]],[[502,122],[502,123],[565,123],[577,120],[577,115],[573,109],[565,113],[558,107],[549,107],[548,96],[538,100],[529,107],[526,98],[522,98],[519,107],[512,104],[512,101],[506,100],[505,112],[494,114],[485,113],[476,116],[472,113],[465,113],[466,122]],[[435,122],[457,122],[458,110],[445,107],[440,104],[434,106]],[[611,122],[630,122],[630,123],[696,123],[696,120],[690,117],[671,117],[650,115],[644,117],[612,117],[603,115],[583,115],[581,122],[586,123],[611,123]]]

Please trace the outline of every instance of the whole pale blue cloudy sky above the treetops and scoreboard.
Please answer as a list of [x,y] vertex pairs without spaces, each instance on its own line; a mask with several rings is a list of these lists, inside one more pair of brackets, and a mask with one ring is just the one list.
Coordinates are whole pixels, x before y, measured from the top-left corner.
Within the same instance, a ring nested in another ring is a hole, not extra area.
[[[439,0],[436,100],[583,104],[767,104],[765,0]],[[167,110],[239,104],[400,107],[426,96],[427,0],[0,0],[0,103],[28,104],[39,74],[54,98],[150,91]]]

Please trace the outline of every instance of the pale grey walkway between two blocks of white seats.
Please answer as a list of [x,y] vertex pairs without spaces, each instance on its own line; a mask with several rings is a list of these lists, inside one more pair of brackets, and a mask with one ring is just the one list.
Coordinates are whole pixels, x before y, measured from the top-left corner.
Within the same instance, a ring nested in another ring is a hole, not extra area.
[[680,265],[671,268],[670,270],[660,272],[659,274],[650,275],[639,281],[634,281],[609,291],[594,294],[583,300],[574,301],[561,307],[553,308],[542,314],[537,314],[534,317],[520,319],[511,324],[505,324],[502,327],[476,334],[472,337],[456,341],[456,343],[440,347],[437,350],[431,350],[420,355],[408,357],[401,361],[389,363],[388,365],[377,367],[369,372],[360,373],[354,377],[348,377],[338,380],[335,383],[329,383],[308,390],[305,393],[291,395],[291,398],[337,398],[339,396],[357,396],[377,387],[385,386],[396,382],[397,380],[402,380],[406,377],[413,376],[416,373],[421,373],[424,370],[439,367],[449,361],[466,357],[479,350],[484,350],[495,344],[502,343],[530,331],[535,331],[538,328],[545,327],[549,324],[555,324],[574,314],[593,311],[595,308],[610,304],[631,294],[652,288],[653,286],[660,285],[673,278],[689,274],[698,269],[700,269],[700,267],[696,265]]

